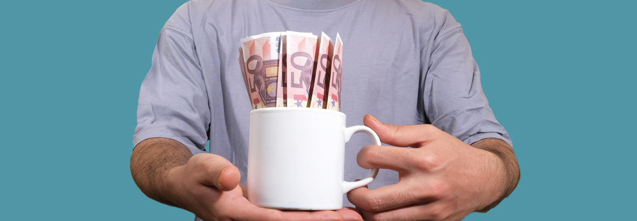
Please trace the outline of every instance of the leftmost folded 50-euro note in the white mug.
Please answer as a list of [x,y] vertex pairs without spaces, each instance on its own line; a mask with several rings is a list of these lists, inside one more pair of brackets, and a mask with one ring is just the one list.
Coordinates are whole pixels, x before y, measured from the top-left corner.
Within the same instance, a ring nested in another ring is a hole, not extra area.
[[[244,70],[254,109],[276,106],[280,36],[281,32],[268,32],[241,39]],[[256,102],[257,99],[261,104]]]

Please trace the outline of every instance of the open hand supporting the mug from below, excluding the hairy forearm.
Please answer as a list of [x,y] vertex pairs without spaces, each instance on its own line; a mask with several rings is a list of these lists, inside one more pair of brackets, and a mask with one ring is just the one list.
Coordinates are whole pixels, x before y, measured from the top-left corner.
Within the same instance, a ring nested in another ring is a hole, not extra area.
[[215,220],[362,220],[353,208],[336,211],[280,211],[261,208],[245,198],[240,172],[228,160],[199,153],[168,172],[166,191],[180,208],[206,221]]

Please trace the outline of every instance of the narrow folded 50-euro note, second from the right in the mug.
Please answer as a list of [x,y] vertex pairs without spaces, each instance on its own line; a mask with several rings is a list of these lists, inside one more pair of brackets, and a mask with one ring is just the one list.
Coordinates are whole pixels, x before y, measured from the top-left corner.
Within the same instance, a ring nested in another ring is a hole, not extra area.
[[327,105],[327,103],[323,102],[325,101],[327,89],[327,87],[325,87],[325,80],[329,80],[334,45],[332,43],[332,39],[330,39],[325,32],[321,32],[319,45],[315,74],[313,76],[313,83],[310,89],[310,108],[325,108]]

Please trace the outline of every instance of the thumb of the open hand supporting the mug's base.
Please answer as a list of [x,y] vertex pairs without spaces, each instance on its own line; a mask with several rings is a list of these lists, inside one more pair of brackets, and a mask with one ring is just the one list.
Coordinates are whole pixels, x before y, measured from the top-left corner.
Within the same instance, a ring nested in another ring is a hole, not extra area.
[[192,164],[192,174],[197,182],[217,187],[219,190],[233,190],[241,179],[239,169],[219,155],[199,153],[191,157],[188,164]]

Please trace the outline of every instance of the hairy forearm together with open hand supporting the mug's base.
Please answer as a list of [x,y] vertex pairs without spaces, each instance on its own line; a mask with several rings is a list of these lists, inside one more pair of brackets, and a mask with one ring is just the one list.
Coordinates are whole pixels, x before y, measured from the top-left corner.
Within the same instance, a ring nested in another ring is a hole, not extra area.
[[239,169],[211,153],[190,154],[172,139],[141,142],[131,157],[133,179],[142,192],[206,220],[362,220],[354,208],[338,211],[280,211],[246,199]]

